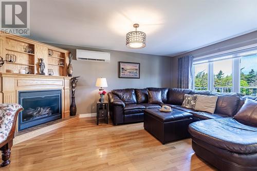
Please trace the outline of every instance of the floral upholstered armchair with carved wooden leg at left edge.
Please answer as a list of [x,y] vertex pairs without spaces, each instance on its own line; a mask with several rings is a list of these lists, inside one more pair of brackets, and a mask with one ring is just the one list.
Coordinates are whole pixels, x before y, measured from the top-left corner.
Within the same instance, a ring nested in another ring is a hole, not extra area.
[[0,149],[2,167],[10,163],[12,140],[14,138],[17,116],[23,107],[19,104],[0,104]]

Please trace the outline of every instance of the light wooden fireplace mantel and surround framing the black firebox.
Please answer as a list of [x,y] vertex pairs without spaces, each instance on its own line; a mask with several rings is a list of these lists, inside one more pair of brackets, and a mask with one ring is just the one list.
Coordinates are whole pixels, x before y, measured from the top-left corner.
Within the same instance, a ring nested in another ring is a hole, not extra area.
[[62,90],[62,118],[69,117],[70,77],[0,73],[0,103],[18,103],[18,92],[26,90]]

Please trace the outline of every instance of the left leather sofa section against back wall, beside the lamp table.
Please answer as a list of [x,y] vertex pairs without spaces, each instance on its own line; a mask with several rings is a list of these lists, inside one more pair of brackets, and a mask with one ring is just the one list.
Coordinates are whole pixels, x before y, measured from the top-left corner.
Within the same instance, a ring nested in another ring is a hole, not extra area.
[[142,122],[144,109],[160,108],[159,104],[148,103],[148,90],[161,90],[162,101],[167,103],[168,88],[127,88],[108,92],[109,111],[113,124]]

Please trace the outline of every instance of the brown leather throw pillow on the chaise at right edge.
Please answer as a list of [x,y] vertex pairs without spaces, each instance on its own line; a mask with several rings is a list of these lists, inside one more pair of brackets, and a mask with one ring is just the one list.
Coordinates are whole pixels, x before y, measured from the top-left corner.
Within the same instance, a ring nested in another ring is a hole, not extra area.
[[257,125],[257,102],[246,99],[241,109],[234,116],[234,119]]

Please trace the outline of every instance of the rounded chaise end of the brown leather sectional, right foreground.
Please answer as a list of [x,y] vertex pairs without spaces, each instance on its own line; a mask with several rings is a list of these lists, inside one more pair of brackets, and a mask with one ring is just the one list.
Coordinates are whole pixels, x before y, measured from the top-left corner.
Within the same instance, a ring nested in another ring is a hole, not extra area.
[[[243,96],[237,110],[243,108],[245,99],[257,101],[256,97]],[[241,117],[236,115],[190,124],[189,132],[196,155],[220,170],[257,170],[257,113],[256,110],[254,112],[243,112]]]

